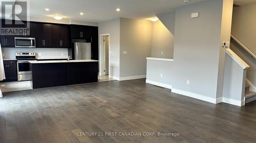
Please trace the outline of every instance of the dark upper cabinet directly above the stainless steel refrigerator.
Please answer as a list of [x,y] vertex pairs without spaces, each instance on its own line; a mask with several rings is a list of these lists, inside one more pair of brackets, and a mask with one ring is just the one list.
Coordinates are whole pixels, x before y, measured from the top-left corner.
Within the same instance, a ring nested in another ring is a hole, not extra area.
[[91,41],[91,26],[71,25],[72,39],[86,39]]

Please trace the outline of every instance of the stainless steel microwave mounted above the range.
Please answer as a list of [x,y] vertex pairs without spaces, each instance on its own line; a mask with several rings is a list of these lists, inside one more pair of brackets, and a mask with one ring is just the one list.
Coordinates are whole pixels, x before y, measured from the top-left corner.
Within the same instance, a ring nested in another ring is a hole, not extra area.
[[14,42],[16,48],[35,48],[35,38],[15,37]]

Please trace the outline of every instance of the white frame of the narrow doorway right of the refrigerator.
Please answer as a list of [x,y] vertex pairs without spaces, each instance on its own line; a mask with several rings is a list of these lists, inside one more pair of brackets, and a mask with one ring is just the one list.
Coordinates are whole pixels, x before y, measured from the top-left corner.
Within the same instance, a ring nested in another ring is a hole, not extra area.
[[105,55],[104,55],[104,41],[103,41],[103,39],[104,39],[104,37],[105,36],[109,36],[109,77],[111,76],[111,69],[110,69],[110,67],[111,67],[111,64],[110,64],[110,61],[111,61],[111,52],[110,52],[110,34],[101,34],[100,35],[100,60],[99,60],[99,62],[100,62],[100,72],[99,72],[99,75],[104,75],[104,65],[105,65],[105,61],[104,61],[104,58],[105,58]]

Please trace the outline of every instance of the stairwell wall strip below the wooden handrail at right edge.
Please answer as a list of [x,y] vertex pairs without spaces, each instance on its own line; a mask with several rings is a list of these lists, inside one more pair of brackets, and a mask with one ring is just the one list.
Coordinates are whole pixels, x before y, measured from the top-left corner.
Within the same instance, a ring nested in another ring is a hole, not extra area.
[[246,78],[256,87],[256,60],[233,40],[231,40],[230,49],[250,66],[250,68],[246,70]]

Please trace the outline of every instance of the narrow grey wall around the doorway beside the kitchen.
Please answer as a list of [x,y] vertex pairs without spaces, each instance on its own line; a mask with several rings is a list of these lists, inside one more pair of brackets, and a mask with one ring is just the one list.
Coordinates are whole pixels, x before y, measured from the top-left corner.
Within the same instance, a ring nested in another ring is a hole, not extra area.
[[[110,34],[110,75],[120,76],[120,18],[99,23],[99,48],[100,35]],[[99,49],[100,51],[100,49]],[[101,54],[99,52],[99,54]],[[102,55],[99,55],[102,57]],[[101,68],[101,66],[100,66]]]

